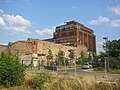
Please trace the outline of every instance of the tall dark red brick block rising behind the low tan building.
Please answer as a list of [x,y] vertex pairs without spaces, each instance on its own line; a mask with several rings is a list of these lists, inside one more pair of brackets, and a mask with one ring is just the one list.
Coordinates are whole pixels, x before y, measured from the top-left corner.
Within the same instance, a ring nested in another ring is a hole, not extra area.
[[96,37],[93,30],[76,21],[69,21],[65,25],[57,26],[53,40],[59,44],[75,47],[86,46],[88,50],[96,51]]

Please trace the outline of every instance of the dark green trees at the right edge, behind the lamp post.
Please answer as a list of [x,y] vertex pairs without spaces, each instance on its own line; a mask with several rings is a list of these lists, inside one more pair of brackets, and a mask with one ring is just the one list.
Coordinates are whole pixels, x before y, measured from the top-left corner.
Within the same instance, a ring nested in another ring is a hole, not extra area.
[[[98,56],[95,56],[94,62],[98,63],[100,67],[104,67],[105,52],[100,52]],[[110,70],[120,69],[120,39],[109,41],[109,67]]]

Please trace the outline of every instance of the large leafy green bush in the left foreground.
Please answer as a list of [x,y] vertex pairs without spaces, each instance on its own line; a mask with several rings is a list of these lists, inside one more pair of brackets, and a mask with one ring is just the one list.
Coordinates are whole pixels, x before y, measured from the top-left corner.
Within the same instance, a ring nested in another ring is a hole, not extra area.
[[5,53],[0,55],[0,85],[6,87],[21,85],[25,80],[24,71],[16,55]]

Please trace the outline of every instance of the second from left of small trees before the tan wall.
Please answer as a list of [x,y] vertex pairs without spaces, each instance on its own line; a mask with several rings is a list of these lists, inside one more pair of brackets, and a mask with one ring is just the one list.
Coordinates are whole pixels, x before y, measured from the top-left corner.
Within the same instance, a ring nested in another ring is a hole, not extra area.
[[65,59],[65,53],[62,50],[58,51],[58,54],[56,56],[57,58],[57,65],[64,65],[64,59]]

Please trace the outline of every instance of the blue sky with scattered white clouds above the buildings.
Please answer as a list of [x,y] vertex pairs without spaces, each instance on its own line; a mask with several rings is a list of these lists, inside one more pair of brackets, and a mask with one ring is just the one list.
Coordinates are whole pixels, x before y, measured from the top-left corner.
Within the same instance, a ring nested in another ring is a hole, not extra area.
[[103,37],[120,39],[120,0],[0,0],[0,44],[52,38],[70,20],[94,31],[100,52]]

